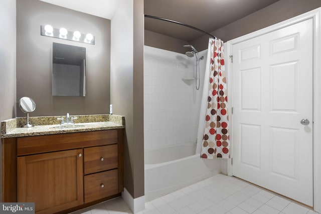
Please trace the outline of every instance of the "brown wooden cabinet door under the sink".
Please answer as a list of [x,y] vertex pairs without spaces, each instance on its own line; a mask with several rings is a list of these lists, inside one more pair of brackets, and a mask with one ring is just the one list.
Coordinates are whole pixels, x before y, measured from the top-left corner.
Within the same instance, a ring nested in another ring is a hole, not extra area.
[[37,213],[83,204],[82,149],[18,157],[18,202],[35,202]]

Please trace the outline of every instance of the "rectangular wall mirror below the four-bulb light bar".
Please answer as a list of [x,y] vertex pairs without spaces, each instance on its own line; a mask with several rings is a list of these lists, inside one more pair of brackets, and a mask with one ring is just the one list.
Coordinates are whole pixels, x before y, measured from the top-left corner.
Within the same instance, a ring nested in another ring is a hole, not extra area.
[[53,43],[52,95],[86,96],[86,48]]

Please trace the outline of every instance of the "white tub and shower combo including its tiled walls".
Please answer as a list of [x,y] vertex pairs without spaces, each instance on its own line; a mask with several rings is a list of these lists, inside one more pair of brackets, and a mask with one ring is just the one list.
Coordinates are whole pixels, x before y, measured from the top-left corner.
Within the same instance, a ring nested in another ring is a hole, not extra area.
[[202,142],[196,144],[205,123],[200,109],[207,50],[185,47],[192,49],[186,55],[144,47],[146,201],[221,172],[222,161],[201,158]]

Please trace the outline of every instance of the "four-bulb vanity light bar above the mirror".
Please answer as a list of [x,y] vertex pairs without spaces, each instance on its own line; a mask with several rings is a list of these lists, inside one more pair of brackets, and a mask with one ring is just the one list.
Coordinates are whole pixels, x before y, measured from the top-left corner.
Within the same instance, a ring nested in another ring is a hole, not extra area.
[[66,28],[57,29],[53,28],[51,25],[42,25],[40,34],[42,36],[95,45],[95,37],[90,33],[82,34],[79,31],[70,32]]

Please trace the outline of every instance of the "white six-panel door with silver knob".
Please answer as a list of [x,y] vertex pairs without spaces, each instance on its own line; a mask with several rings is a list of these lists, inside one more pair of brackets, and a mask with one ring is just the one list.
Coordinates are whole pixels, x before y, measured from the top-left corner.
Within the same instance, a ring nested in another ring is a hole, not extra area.
[[233,175],[309,206],[312,35],[310,19],[235,44],[232,64]]

